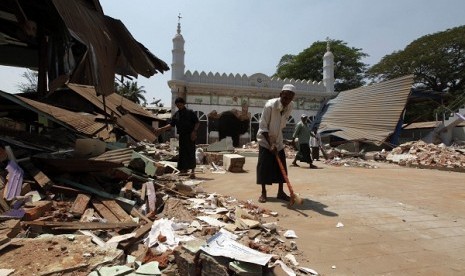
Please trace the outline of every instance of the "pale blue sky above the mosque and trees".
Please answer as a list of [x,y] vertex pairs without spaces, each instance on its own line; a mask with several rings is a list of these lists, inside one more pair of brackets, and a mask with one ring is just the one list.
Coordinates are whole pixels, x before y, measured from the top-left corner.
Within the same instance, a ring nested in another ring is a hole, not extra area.
[[[272,75],[285,54],[326,37],[369,55],[369,65],[413,40],[465,25],[463,0],[100,0],[134,38],[171,68],[172,39],[181,13],[186,70]],[[0,66],[0,90],[16,93],[25,69]],[[150,103],[170,105],[171,71],[139,85]]]

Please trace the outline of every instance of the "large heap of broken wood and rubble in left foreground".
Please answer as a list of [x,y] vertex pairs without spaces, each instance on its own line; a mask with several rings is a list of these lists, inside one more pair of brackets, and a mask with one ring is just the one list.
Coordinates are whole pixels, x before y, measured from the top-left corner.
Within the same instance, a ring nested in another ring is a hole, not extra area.
[[176,169],[170,144],[81,142],[39,153],[0,146],[5,275],[313,271],[299,267],[297,235],[276,212],[204,193],[201,179]]

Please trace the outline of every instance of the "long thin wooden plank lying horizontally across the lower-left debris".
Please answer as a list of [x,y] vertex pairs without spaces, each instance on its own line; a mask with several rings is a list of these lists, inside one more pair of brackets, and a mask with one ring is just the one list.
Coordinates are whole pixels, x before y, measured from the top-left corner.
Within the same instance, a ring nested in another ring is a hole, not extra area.
[[79,222],[79,221],[23,221],[22,224],[28,226],[50,227],[57,230],[104,230],[123,229],[137,227],[136,222]]

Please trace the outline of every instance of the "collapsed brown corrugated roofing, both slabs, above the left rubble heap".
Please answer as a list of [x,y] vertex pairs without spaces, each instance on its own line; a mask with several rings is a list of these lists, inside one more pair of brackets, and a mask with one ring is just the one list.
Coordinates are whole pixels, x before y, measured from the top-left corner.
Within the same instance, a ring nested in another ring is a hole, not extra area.
[[[99,112],[72,111],[66,109],[62,103],[59,104],[65,108],[0,90],[2,115],[25,125],[34,124],[37,122],[37,118],[43,117],[84,137],[108,138],[113,127],[118,127],[136,141],[155,141],[156,136],[150,125],[144,123],[140,118],[145,117],[150,122],[157,119],[140,105],[115,93],[106,97],[108,106],[103,108],[101,97],[95,95],[92,86],[76,84],[68,84],[68,86],[72,89],[71,91],[88,101],[87,105],[95,106]],[[66,98],[71,98],[69,93],[66,94]],[[71,100],[79,105],[79,99],[73,97]],[[109,122],[111,122],[110,125]]]

